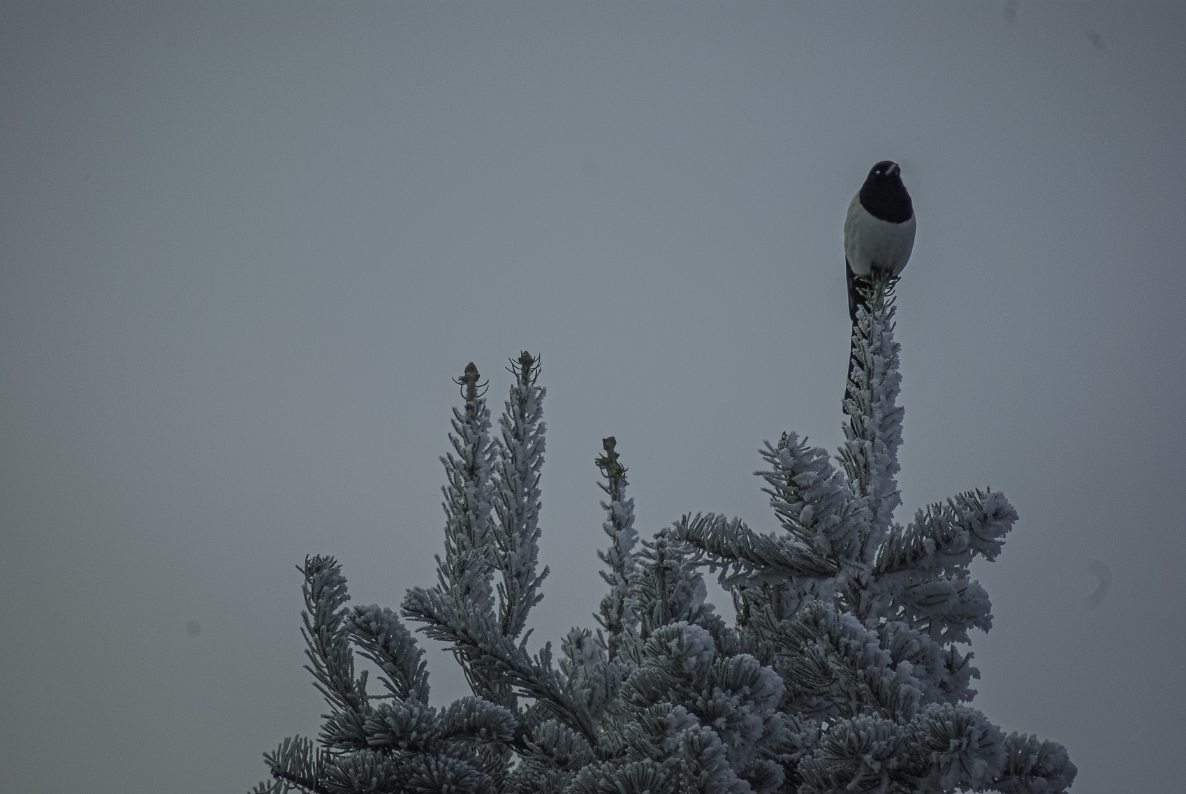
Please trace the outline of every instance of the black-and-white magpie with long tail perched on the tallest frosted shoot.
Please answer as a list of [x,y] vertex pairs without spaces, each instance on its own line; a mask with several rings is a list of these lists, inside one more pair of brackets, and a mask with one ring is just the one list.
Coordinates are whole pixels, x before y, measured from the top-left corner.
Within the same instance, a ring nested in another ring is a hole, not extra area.
[[[901,184],[901,168],[892,160],[873,166],[844,218],[844,270],[848,278],[848,316],[856,329],[856,309],[868,309],[862,292],[872,282],[897,278],[914,248],[914,205]],[[848,358],[852,377],[856,337]],[[846,401],[850,397],[847,385]],[[848,412],[847,410],[844,411]]]

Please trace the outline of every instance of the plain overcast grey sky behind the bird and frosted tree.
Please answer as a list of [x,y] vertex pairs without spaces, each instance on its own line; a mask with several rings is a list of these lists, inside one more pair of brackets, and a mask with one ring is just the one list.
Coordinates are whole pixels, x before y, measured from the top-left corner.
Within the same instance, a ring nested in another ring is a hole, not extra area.
[[293,566],[433,581],[470,360],[497,412],[543,356],[535,641],[602,593],[605,435],[644,534],[774,529],[755,450],[842,437],[890,158],[898,519],[1021,516],[975,705],[1076,793],[1177,790],[1184,41],[1180,2],[4,2],[2,788],[246,790],[315,732]]

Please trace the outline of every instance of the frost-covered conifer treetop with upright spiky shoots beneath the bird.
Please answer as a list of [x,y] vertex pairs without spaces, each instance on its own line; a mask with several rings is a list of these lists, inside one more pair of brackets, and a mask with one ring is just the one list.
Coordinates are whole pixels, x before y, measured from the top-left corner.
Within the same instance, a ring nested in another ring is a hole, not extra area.
[[[512,361],[495,440],[468,365],[442,459],[445,557],[401,613],[449,645],[472,694],[431,706],[401,615],[347,608],[340,566],[310,557],[306,668],[330,712],[315,742],[264,754],[272,781],[256,794],[1065,790],[1076,768],[1061,745],[1006,735],[968,705],[980,677],[969,629],[991,627],[970,564],[1000,553],[1016,512],[975,489],[894,521],[893,318],[887,284],[874,284],[853,332],[841,468],[793,433],[761,450],[771,532],[697,513],[639,540],[617,441],[602,441],[608,593],[597,628],[570,629],[555,660],[524,632],[547,576],[538,360]],[[732,626],[704,600],[706,570],[732,594]]]

